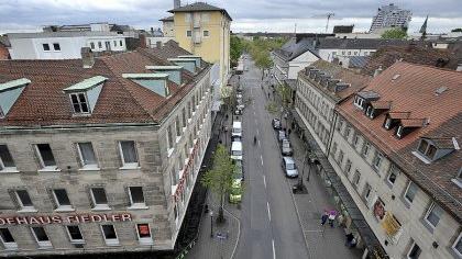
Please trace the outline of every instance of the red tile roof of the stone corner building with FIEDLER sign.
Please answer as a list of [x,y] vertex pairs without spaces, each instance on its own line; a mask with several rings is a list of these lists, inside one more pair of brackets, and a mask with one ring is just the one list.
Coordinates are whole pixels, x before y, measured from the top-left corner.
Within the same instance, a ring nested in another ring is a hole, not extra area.
[[[145,69],[145,66],[152,65],[170,64],[162,58],[153,58],[145,52],[99,57],[95,59],[92,68],[82,68],[79,59],[0,60],[0,83],[19,78],[32,81],[24,88],[6,117],[0,119],[0,127],[157,123],[168,113],[165,110],[160,112],[160,108],[172,109],[194,87],[191,79],[195,77],[185,74],[184,79],[188,81],[184,87],[168,81],[170,91],[168,98],[122,78],[122,74],[152,72]],[[103,76],[108,80],[102,87],[91,115],[73,116],[68,95],[63,89],[95,76]],[[201,74],[196,77],[201,77]]]

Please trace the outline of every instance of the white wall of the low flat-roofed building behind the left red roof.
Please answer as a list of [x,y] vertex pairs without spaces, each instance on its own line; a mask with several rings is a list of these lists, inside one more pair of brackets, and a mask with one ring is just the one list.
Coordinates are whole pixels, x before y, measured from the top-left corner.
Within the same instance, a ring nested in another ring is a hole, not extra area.
[[[101,42],[101,47],[98,43]],[[74,59],[80,58],[81,47],[91,47],[92,52],[109,50],[106,42],[110,44],[110,50],[127,50],[123,36],[78,36],[78,37],[41,37],[41,38],[10,38],[9,49],[11,59]],[[122,44],[121,44],[122,43]],[[48,44],[50,50],[44,50],[43,44]],[[54,49],[53,44],[59,44],[59,50]]]

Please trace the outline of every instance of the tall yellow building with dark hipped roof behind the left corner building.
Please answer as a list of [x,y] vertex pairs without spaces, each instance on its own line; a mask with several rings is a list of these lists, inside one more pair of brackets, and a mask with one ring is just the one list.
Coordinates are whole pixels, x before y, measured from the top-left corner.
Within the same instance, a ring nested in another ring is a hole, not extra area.
[[220,65],[223,86],[230,70],[231,16],[224,9],[196,2],[169,11],[174,14],[175,41],[180,47]]

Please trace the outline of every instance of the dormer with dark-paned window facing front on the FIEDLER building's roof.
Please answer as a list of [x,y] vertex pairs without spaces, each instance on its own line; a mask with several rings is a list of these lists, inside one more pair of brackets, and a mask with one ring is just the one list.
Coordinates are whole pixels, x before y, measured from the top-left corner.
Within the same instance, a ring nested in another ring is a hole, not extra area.
[[106,80],[108,78],[96,76],[63,89],[65,93],[69,94],[75,115],[86,115],[92,112]]

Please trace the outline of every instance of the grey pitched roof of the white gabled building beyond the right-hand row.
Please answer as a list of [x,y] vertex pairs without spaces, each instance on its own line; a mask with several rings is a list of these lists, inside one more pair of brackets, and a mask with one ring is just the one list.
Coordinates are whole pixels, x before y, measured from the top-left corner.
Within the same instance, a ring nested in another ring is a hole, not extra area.
[[295,37],[290,38],[287,43],[285,43],[280,48],[275,49],[274,54],[278,57],[283,58],[286,61],[294,60],[301,54],[306,52],[312,53],[315,56],[318,56],[314,45],[314,38],[311,37],[304,37],[297,41]]

